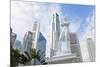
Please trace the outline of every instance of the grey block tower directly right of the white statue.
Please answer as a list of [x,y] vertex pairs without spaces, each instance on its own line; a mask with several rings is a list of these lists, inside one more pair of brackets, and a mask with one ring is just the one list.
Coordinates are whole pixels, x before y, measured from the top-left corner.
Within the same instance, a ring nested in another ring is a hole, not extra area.
[[71,47],[71,52],[77,55],[77,58],[75,59],[74,62],[82,62],[81,49],[76,33],[70,33],[70,47]]

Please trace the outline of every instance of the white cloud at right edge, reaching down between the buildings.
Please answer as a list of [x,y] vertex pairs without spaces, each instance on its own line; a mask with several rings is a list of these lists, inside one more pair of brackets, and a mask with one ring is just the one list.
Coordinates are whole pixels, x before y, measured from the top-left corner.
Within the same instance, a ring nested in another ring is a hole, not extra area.
[[92,38],[95,42],[95,14],[86,18],[88,25],[85,27],[84,32],[80,33],[80,46],[82,51],[82,57],[84,61],[89,61],[87,38]]

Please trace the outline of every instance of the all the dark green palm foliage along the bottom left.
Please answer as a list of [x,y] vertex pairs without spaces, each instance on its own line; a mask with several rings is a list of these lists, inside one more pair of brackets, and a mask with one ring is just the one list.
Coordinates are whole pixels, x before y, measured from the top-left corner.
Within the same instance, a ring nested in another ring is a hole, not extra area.
[[[20,54],[20,51],[11,48],[11,66],[18,66],[19,63],[26,65],[26,63],[30,62],[32,59],[41,61],[41,55],[43,53],[40,55],[39,52],[39,50],[31,49],[30,54],[27,51],[25,51],[23,54]],[[40,63],[46,64],[45,60],[42,60]],[[35,65],[35,61],[33,65]]]

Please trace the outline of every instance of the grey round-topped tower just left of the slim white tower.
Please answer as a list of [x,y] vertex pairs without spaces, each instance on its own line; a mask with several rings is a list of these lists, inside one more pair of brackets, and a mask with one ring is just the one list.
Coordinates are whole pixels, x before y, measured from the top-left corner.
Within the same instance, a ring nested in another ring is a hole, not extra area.
[[23,51],[30,52],[30,49],[32,48],[32,36],[33,33],[30,31],[25,33],[23,39]]

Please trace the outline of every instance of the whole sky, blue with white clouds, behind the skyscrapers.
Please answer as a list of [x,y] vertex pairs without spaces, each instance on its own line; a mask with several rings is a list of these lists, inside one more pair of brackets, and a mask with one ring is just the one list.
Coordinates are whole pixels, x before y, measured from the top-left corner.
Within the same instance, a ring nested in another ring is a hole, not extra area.
[[86,38],[95,40],[95,6],[59,3],[41,3],[32,1],[11,1],[11,28],[17,34],[17,40],[23,42],[24,34],[32,31],[35,21],[40,23],[40,31],[47,39],[46,56],[50,55],[50,29],[53,12],[59,14],[60,23],[66,17],[69,31],[76,32],[80,41],[84,60],[87,60]]

